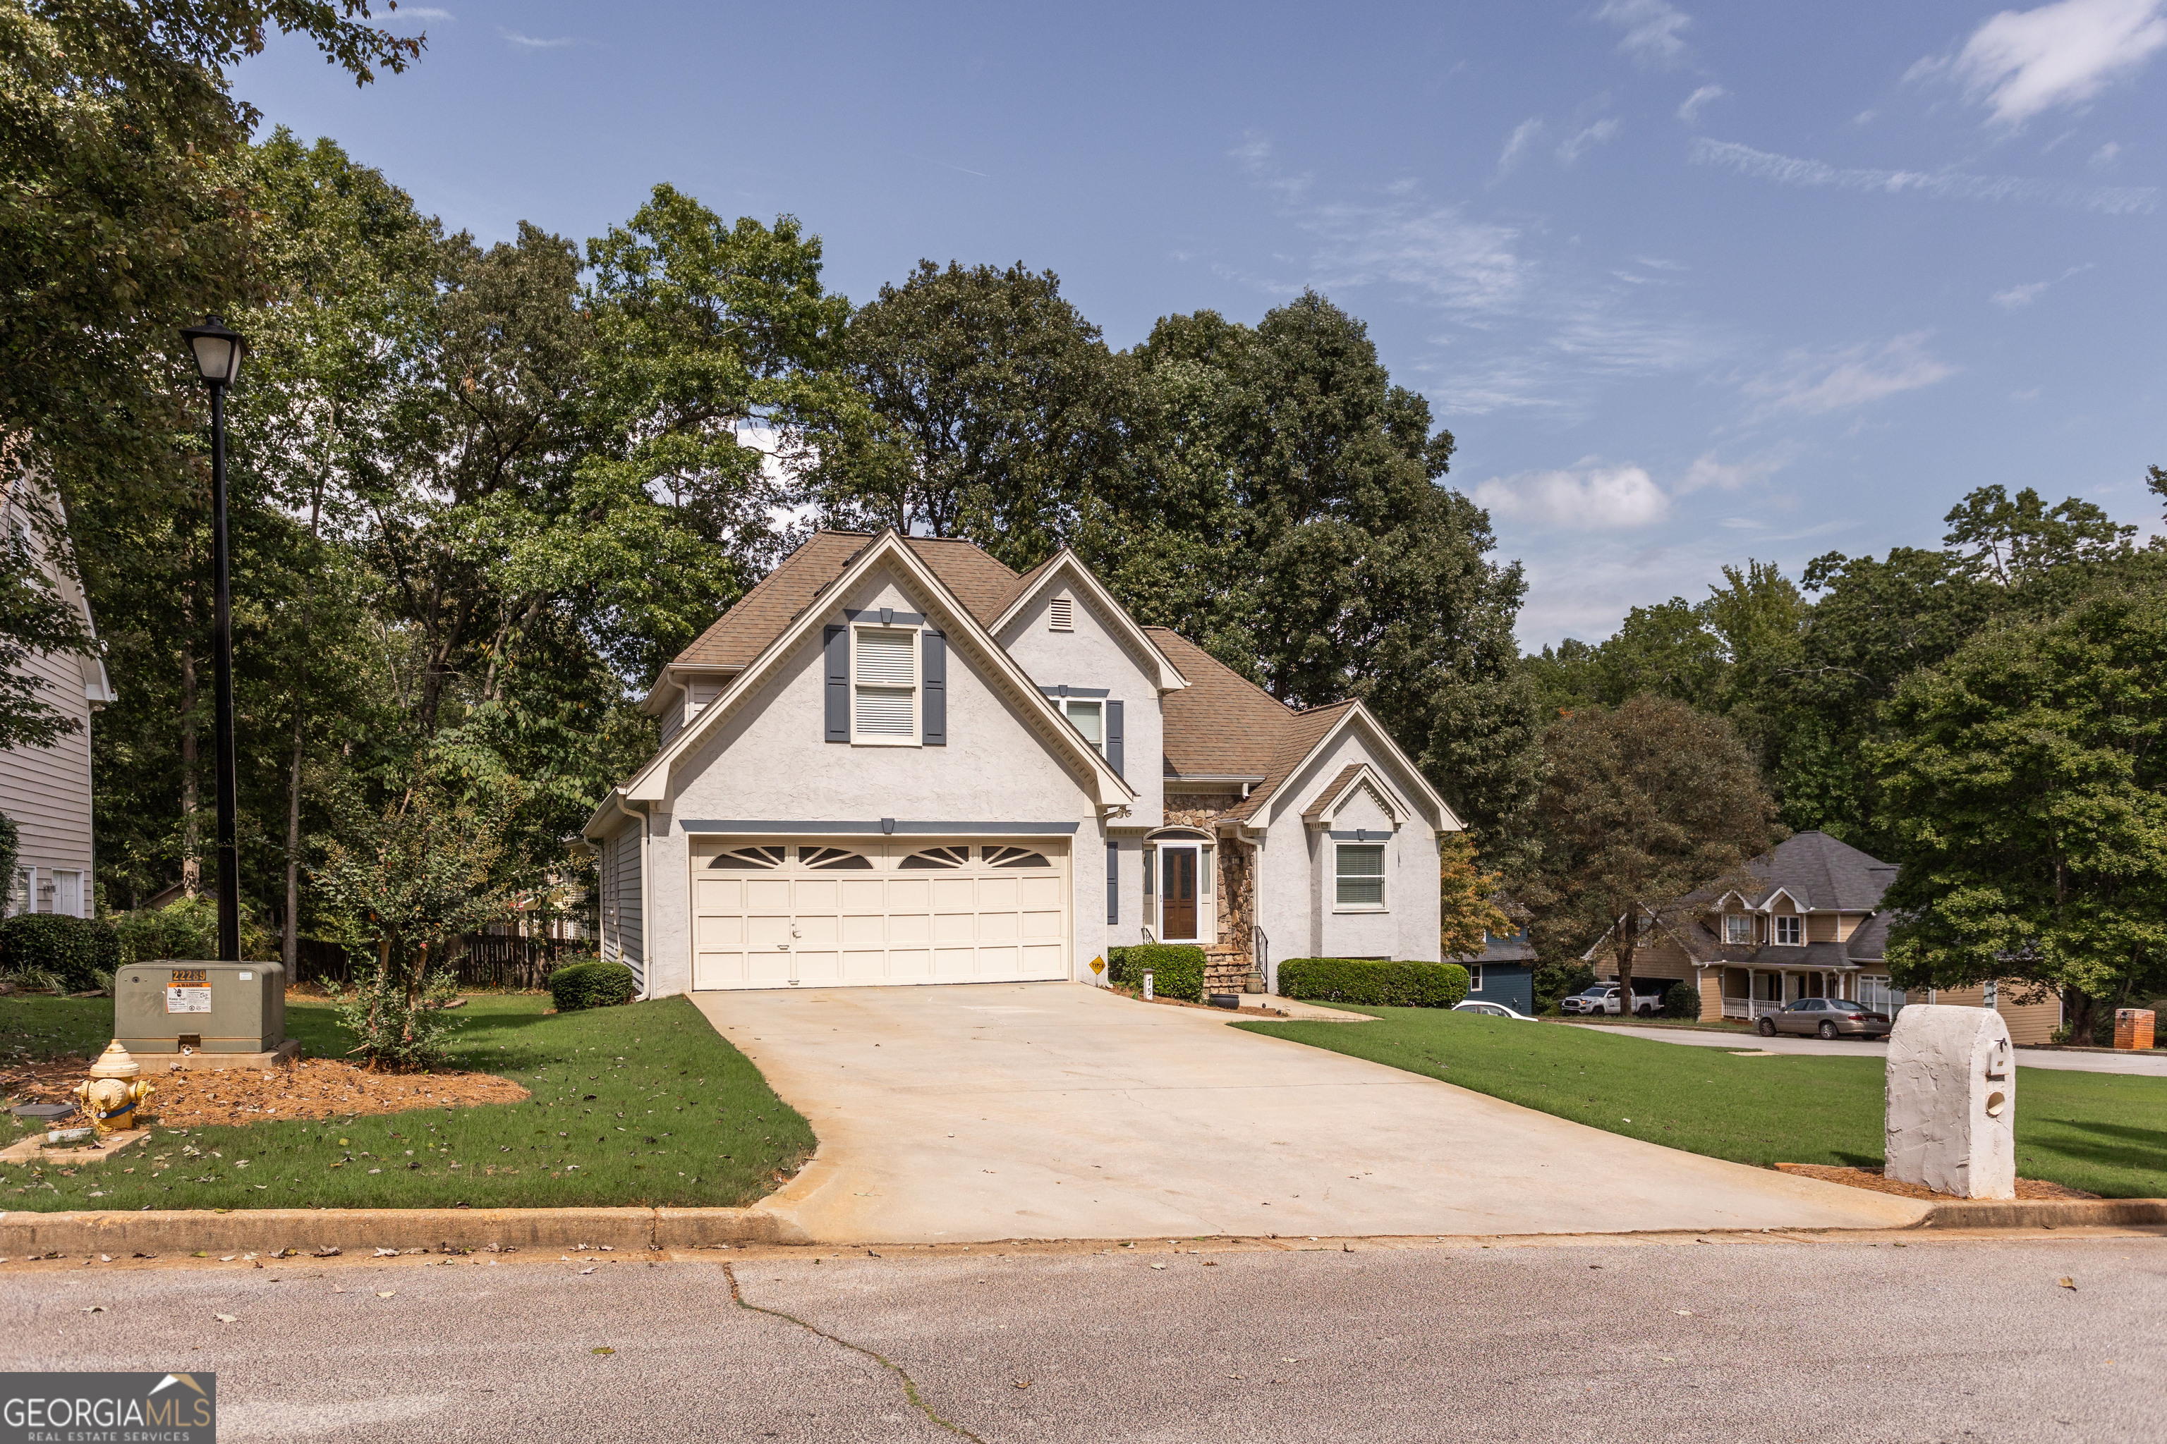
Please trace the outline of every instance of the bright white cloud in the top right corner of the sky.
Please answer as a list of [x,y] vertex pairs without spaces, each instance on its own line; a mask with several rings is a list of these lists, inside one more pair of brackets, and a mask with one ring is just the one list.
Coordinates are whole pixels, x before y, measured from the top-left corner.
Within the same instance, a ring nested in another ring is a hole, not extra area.
[[2124,80],[2167,45],[2167,0],[2056,0],[2035,11],[2002,11],[1972,32],[1952,58],[1924,58],[1905,76],[1952,74],[2000,126],[2022,126],[2041,110],[2078,106]]

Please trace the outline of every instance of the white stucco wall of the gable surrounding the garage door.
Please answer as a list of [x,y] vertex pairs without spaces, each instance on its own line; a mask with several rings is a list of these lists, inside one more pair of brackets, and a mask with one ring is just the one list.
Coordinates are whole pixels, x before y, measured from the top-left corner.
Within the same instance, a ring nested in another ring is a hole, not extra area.
[[1023,704],[990,678],[986,658],[973,652],[960,626],[934,617],[949,639],[945,747],[826,740],[821,626],[841,626],[845,608],[882,606],[930,611],[927,600],[886,576],[871,576],[852,595],[834,598],[767,682],[672,766],[670,797],[657,805],[650,842],[654,994],[691,985],[687,838],[715,823],[745,821],[795,825],[787,836],[819,836],[819,823],[878,825],[880,818],[984,825],[984,833],[951,836],[995,836],[999,823],[1073,829],[1049,840],[1070,849],[1070,976],[1092,976],[1090,959],[1105,950],[1105,831],[1081,775],[1084,762],[1055,751],[1036,719],[1023,714]]

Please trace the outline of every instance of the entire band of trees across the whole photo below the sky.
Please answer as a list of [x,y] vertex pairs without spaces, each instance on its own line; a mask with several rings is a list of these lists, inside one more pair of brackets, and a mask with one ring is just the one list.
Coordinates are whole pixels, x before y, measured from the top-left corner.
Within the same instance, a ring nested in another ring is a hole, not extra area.
[[[1578,957],[1623,898],[1822,827],[1905,864],[1909,979],[2030,976],[2080,1009],[2167,985],[2143,652],[2167,561],[2095,507],[1978,489],[1939,550],[1749,561],[1523,658],[1521,572],[1450,487],[1454,437],[1328,299],[1114,351],[1053,273],[921,262],[854,305],[795,219],[665,184],[602,236],[481,245],[336,143],[260,134],[225,71],[273,26],[358,82],[420,54],[358,0],[0,0],[0,435],[65,504],[121,697],[93,738],[108,905],[208,881],[206,413],[178,329],[221,312],[254,344],[243,890],[288,935],[384,909],[379,942],[427,955],[449,903],[414,898],[449,892],[384,859],[431,818],[488,821],[472,892],[572,866],[654,743],[654,669],[806,530],[899,526],[1016,569],[1073,546],[1272,695],[1365,699],[1474,829],[1461,942],[1508,885]],[[28,554],[0,559],[0,662],[65,628]],[[50,725],[0,691],[0,745]]]

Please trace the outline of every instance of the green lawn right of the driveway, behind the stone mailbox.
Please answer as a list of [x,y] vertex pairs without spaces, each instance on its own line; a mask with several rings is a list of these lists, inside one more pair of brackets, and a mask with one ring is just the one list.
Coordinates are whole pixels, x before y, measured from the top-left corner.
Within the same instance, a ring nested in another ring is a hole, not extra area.
[[[1738,1059],[1441,1009],[1352,1011],[1378,1022],[1235,1026],[1712,1158],[1881,1167],[1883,1063],[1874,1056]],[[2167,1078],[2020,1067],[2017,1173],[2106,1197],[2167,1197]]]

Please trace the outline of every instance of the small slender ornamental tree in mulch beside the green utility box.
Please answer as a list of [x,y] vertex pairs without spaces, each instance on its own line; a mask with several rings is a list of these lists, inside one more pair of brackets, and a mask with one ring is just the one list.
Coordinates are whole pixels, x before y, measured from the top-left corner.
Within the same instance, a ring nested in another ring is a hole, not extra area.
[[455,937],[514,916],[505,831],[518,801],[514,779],[455,792],[425,766],[379,816],[355,818],[325,849],[314,868],[325,911],[349,953],[375,953],[351,996],[334,989],[362,1039],[353,1052],[371,1065],[423,1067],[442,1056],[453,1024],[433,1005],[451,979],[442,970],[431,979],[429,968]]

